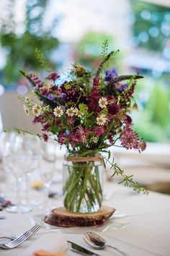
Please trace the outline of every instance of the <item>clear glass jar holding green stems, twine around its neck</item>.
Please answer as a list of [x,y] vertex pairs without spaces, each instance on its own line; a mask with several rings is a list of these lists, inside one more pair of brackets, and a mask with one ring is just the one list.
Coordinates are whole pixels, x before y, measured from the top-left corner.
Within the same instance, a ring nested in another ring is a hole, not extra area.
[[65,156],[63,162],[64,206],[73,213],[95,213],[102,206],[103,166],[94,157]]

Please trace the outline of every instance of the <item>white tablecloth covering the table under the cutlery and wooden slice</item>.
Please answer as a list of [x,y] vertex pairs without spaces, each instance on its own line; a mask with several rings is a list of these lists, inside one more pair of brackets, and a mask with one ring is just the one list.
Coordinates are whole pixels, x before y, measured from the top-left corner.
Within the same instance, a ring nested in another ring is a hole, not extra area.
[[[54,184],[53,188],[58,189],[60,186],[61,184]],[[14,197],[12,188],[11,192],[9,190],[9,188],[6,189],[6,195],[9,198]],[[90,249],[82,239],[83,233],[86,231],[99,232],[110,244],[127,252],[129,256],[170,255],[169,195],[156,192],[150,192],[147,196],[136,194],[133,189],[122,187],[114,182],[104,183],[104,195],[107,195],[107,197],[103,205],[117,209],[117,214],[112,216],[107,225],[76,229],[45,229],[45,227],[42,227],[35,236],[32,236],[16,249],[0,249],[0,255],[32,256],[32,246],[34,249],[39,247],[40,244],[44,245],[43,241],[48,244],[50,234],[56,236],[56,239],[64,239],[66,236],[66,239],[71,239],[73,242]],[[42,192],[32,191],[32,198],[42,200]],[[59,207],[63,205],[63,198],[50,199],[50,202],[55,207]],[[42,211],[38,209],[34,209],[27,214],[7,213],[3,210],[0,214],[6,216],[6,219],[0,220],[0,236],[4,234],[21,234],[23,231],[30,229],[36,218],[43,216]],[[104,256],[120,255],[110,248],[98,250],[97,252],[99,255]],[[71,252],[69,255],[77,254]]]

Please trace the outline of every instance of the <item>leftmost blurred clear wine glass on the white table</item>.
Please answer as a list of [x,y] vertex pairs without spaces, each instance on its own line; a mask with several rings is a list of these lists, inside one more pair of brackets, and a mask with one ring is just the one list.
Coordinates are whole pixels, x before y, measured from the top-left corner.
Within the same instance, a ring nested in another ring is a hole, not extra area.
[[17,203],[16,205],[11,205],[6,210],[11,213],[28,213],[32,210],[28,205],[21,204],[21,185],[22,176],[24,171],[28,166],[30,166],[31,158],[29,155],[24,155],[21,153],[15,153],[13,155],[8,155],[5,158],[5,166],[7,171],[10,171],[14,176],[17,184]]

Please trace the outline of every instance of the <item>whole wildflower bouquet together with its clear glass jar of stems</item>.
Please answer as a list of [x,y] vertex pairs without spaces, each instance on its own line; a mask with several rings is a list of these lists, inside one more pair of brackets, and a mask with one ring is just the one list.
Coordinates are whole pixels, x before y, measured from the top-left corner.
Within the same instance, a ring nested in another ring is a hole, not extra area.
[[[64,204],[70,211],[97,211],[102,204],[102,182],[99,179],[99,163],[109,162],[112,176],[122,176],[122,183],[143,191],[132,176],[126,176],[116,163],[109,161],[109,147],[116,145],[127,149],[146,148],[146,142],[139,140],[133,132],[133,121],[129,115],[135,105],[133,92],[140,75],[118,75],[116,69],[107,69],[109,54],[103,48],[102,61],[97,70],[89,71],[79,64],[73,64],[66,80],[60,82],[60,75],[50,72],[45,80],[35,73],[22,72],[32,83],[37,101],[24,98],[24,111],[35,116],[34,122],[42,124],[42,137],[48,140],[55,135],[68,153],[68,176],[63,187]],[[123,82],[126,81],[126,82]],[[108,153],[108,157],[103,153]],[[76,158],[75,158],[76,157]],[[76,161],[75,161],[76,159]],[[98,161],[94,165],[94,161]],[[86,204],[86,210],[82,210]],[[91,210],[92,209],[92,210]]]

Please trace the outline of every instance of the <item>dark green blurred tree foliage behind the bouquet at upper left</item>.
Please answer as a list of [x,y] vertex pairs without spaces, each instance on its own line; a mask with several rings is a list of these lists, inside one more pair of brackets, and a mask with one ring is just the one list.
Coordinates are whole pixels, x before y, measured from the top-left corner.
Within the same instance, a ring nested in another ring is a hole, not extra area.
[[[21,67],[27,70],[40,70],[40,64],[35,58],[35,48],[37,46],[50,62],[49,54],[57,47],[58,40],[48,37],[40,38],[26,32],[20,38],[17,38],[14,34],[1,35],[1,45],[11,48],[3,71],[4,82],[7,85],[19,80],[19,69]],[[50,67],[53,67],[52,63],[50,63]]]

